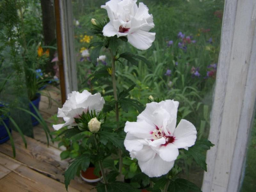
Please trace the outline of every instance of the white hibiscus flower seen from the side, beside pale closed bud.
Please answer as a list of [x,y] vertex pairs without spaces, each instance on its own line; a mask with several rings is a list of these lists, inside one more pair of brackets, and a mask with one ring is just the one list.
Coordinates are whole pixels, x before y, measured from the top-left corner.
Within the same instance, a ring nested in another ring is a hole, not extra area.
[[59,130],[64,126],[76,126],[74,118],[79,118],[82,113],[94,111],[99,113],[105,100],[100,93],[92,95],[87,90],[82,93],[73,91],[68,95],[68,100],[63,104],[63,107],[58,109],[57,117],[63,117],[65,123],[53,125],[55,130]]

